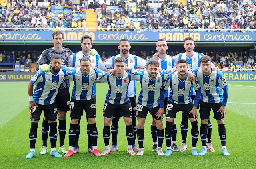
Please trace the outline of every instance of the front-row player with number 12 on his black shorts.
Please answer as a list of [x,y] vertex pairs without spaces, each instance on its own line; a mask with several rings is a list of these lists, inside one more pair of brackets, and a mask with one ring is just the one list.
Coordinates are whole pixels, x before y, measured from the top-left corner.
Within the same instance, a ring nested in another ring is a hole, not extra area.
[[[177,62],[177,71],[169,75],[168,79],[164,81],[163,88],[160,92],[160,111],[164,113],[166,110],[166,128],[165,128],[165,138],[167,143],[167,150],[164,155],[169,156],[172,154],[171,150],[171,138],[172,138],[172,122],[176,117],[176,113],[179,111],[184,111],[184,115],[188,117],[191,122],[191,135],[192,135],[192,155],[198,155],[196,152],[196,143],[198,141],[198,126],[197,126],[197,112],[191,114],[193,108],[193,103],[190,96],[190,89],[193,86],[197,92],[200,93],[200,85],[198,81],[191,83],[187,76],[186,71],[188,69],[188,63],[184,59],[180,59]],[[196,84],[197,83],[197,84]],[[167,108],[164,109],[164,94],[171,88]],[[197,102],[194,106],[197,107],[199,101],[199,94],[197,95]],[[196,116],[196,117],[195,117]]]

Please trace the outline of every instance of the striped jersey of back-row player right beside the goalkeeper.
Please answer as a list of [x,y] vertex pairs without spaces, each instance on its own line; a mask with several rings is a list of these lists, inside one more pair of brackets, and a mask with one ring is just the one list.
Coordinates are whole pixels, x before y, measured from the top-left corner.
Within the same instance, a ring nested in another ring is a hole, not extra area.
[[[100,55],[85,55],[84,53],[82,53],[82,51],[77,52],[77,53],[73,53],[70,57],[69,57],[69,62],[68,65],[70,67],[74,67],[77,65],[80,65],[80,59],[82,57],[89,57],[91,59],[91,65],[94,67],[97,67],[101,70],[105,70],[106,66],[104,65]],[[93,85],[93,94],[94,96],[96,95],[96,84]]]

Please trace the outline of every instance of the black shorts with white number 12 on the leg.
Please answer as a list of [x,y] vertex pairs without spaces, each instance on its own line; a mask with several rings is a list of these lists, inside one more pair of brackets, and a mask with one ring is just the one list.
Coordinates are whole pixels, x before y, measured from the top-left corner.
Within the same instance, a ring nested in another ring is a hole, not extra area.
[[176,118],[176,113],[179,111],[183,111],[184,115],[187,116],[188,118],[194,118],[193,114],[188,114],[192,108],[193,108],[193,103],[188,103],[188,104],[176,104],[174,102],[171,102],[168,100],[166,112],[165,112],[165,117],[166,118]]

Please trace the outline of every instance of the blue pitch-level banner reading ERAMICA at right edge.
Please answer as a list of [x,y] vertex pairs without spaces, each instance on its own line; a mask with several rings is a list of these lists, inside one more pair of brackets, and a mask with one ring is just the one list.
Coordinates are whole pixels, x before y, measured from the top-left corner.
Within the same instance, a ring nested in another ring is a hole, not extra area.
[[256,81],[256,72],[222,72],[226,81]]

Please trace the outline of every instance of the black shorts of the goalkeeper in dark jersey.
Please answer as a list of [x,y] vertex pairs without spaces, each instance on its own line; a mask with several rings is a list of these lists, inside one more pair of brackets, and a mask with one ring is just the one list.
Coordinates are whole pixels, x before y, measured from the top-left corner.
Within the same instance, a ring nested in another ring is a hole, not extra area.
[[55,97],[57,102],[58,111],[68,111],[70,110],[70,95],[69,89],[59,89],[57,96]]

